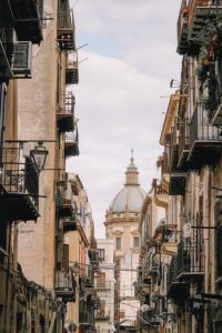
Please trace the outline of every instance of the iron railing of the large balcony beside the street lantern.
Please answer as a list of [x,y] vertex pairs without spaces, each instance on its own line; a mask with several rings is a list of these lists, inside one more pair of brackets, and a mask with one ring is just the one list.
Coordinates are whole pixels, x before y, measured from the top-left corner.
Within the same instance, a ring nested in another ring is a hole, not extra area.
[[8,193],[27,194],[39,208],[39,172],[31,157],[19,147],[3,148],[2,185]]

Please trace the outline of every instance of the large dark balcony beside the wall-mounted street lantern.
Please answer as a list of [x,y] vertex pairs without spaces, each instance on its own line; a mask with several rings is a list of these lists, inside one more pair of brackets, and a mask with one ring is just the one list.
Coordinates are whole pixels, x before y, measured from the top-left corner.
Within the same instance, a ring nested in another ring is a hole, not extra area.
[[32,158],[16,143],[3,149],[2,158],[1,219],[6,222],[36,221],[39,216],[39,172]]

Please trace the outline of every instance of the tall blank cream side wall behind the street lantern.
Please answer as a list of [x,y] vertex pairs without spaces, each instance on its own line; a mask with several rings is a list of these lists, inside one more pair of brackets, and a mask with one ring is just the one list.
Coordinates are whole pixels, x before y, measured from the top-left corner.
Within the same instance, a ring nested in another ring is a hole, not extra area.
[[[44,40],[33,48],[32,79],[19,81],[19,139],[56,141],[57,91],[57,1],[44,1],[54,20],[46,21]],[[56,169],[56,143],[49,150],[46,168]],[[40,214],[37,224],[22,223],[19,228],[19,261],[29,280],[53,287],[54,272],[54,172],[40,175]]]

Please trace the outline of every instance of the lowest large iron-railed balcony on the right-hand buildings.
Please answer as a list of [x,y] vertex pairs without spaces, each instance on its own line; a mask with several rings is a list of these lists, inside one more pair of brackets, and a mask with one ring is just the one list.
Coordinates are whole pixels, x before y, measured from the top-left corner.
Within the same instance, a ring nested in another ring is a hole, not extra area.
[[204,275],[203,249],[198,242],[182,240],[178,245],[178,280],[202,280]]

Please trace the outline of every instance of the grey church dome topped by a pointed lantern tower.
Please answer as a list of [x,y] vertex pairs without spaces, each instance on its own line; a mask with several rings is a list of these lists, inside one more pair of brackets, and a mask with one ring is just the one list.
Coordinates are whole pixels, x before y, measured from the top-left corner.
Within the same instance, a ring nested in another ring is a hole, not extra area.
[[134,159],[131,158],[130,165],[125,172],[124,188],[114,196],[110,205],[111,213],[140,212],[147,193],[140,188],[138,175],[139,172],[134,165]]

